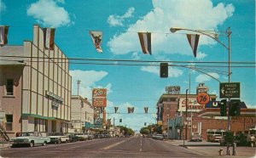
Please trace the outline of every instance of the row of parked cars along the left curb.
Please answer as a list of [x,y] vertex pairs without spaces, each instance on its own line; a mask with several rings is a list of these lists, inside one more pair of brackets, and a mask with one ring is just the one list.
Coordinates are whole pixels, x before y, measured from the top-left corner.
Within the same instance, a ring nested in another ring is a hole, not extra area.
[[94,135],[90,133],[49,133],[48,136],[44,137],[39,132],[28,132],[20,133],[16,138],[10,138],[9,143],[12,147],[18,145],[29,145],[33,147],[36,144],[61,144],[67,142],[76,142],[83,140],[91,140]]

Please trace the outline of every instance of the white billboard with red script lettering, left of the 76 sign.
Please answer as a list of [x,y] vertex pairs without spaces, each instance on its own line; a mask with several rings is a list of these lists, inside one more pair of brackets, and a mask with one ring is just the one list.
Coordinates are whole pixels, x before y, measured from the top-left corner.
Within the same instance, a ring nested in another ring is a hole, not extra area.
[[[205,108],[205,104],[199,104],[196,98],[188,98],[188,111],[201,111]],[[186,98],[179,99],[178,111],[186,111]]]

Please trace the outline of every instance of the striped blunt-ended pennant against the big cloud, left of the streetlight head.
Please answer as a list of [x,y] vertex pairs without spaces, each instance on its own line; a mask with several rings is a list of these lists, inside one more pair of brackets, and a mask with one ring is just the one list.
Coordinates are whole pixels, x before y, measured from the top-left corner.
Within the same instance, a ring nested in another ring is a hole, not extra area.
[[143,49],[143,54],[152,54],[151,52],[151,33],[137,32]]

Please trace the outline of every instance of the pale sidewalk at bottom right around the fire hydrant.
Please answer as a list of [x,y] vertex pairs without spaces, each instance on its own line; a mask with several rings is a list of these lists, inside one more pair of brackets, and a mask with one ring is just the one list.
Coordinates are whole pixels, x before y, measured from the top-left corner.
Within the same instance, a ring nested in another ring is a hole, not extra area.
[[[230,147],[230,155],[226,155],[226,146],[219,146],[219,143],[211,143],[211,142],[189,142],[183,140],[168,140],[168,143],[176,145],[176,146],[182,146],[189,150],[196,151],[198,153],[201,153],[203,155],[207,156],[214,156],[214,157],[255,157],[256,155],[256,148],[247,147],[247,146],[238,146],[236,147],[236,155],[232,155],[233,148]],[[184,146],[183,146],[184,144]],[[223,150],[223,155],[218,154],[218,150]]]

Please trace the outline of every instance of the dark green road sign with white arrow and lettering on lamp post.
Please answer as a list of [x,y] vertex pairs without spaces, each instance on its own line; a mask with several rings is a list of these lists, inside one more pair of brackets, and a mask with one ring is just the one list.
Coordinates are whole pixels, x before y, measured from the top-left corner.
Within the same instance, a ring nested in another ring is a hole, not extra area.
[[240,98],[240,82],[219,83],[219,98],[220,99]]

